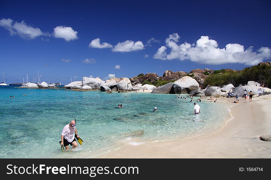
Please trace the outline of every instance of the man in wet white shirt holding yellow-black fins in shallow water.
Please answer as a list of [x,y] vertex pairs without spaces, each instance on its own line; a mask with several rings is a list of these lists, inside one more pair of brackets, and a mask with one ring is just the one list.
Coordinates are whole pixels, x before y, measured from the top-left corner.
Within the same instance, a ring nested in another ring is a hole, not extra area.
[[69,145],[71,145],[72,148],[76,148],[78,146],[75,140],[75,135],[77,136],[77,138],[79,138],[79,135],[75,126],[75,121],[71,120],[70,123],[64,126],[62,130],[60,145],[64,145],[66,150],[69,149]]

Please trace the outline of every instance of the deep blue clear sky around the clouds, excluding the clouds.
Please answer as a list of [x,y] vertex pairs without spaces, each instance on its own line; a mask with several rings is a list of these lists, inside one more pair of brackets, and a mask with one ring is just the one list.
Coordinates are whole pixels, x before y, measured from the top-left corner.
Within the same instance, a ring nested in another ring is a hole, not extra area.
[[[0,74],[5,71],[9,83],[22,82],[28,74],[33,81],[39,70],[42,80],[67,83],[67,78],[99,76],[133,77],[139,73],[165,70],[186,71],[204,69],[243,69],[244,64],[198,64],[190,60],[160,60],[152,58],[165,45],[169,34],[178,33],[178,44],[194,43],[200,36],[209,36],[223,48],[229,43],[271,47],[270,1],[1,1],[0,20],[25,21],[27,25],[52,34],[56,26],[69,26],[78,39],[66,42],[53,36],[24,39],[11,36],[0,27]],[[42,39],[49,39],[42,41]],[[111,49],[89,48],[96,38],[115,46],[126,40],[142,41],[156,38],[144,50],[112,52]],[[144,58],[148,54],[149,58]],[[86,58],[95,64],[84,64]],[[71,59],[62,62],[62,59]],[[120,69],[114,69],[120,65]],[[0,76],[1,77],[1,76]]]

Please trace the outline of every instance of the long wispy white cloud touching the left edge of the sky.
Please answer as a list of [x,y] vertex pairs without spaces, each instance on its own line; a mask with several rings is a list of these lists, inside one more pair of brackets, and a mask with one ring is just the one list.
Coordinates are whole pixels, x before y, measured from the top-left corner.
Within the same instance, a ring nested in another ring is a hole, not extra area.
[[1,19],[0,26],[4,27],[10,32],[10,35],[18,35],[21,38],[34,39],[38,36],[50,36],[49,33],[42,32],[39,28],[34,28],[27,25],[24,21],[22,22],[13,22],[12,19]]

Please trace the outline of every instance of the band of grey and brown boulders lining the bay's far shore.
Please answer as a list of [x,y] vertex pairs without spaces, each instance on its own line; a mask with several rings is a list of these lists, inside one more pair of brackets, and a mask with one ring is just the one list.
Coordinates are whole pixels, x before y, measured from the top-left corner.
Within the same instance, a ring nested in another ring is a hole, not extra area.
[[[265,63],[270,66],[268,62]],[[259,64],[262,65],[262,64]],[[225,72],[232,72],[236,70],[224,69]],[[189,94],[191,96],[227,96],[231,92],[231,97],[236,95],[241,97],[246,90],[248,93],[252,91],[254,95],[264,95],[271,92],[271,89],[262,87],[260,83],[249,81],[247,85],[239,85],[234,87],[233,84],[225,84],[221,87],[218,86],[206,86],[204,84],[205,78],[208,74],[213,74],[214,70],[205,68],[194,69],[189,73],[184,71],[173,72],[166,70],[162,77],[159,77],[156,73],[139,74],[131,79],[129,78],[111,78],[103,81],[100,78],[88,78],[83,77],[82,81],[71,82],[64,86],[66,89],[71,90],[99,90],[106,93],[112,93],[112,91],[125,92],[133,90],[152,90],[151,93],[156,94]],[[156,81],[171,81],[163,86],[151,85]],[[150,84],[146,84],[149,82]],[[142,85],[144,84],[144,85]],[[46,82],[41,84],[27,83],[21,88],[51,88],[48,87]],[[54,87],[53,87],[54,88]]]

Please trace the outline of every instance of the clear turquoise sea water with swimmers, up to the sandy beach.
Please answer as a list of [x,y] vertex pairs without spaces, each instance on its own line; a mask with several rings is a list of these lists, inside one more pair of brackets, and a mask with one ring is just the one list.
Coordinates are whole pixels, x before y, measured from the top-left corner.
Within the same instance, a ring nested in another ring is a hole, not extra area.
[[[90,158],[125,144],[204,134],[229,118],[229,106],[224,103],[198,102],[201,113],[195,115],[189,101],[175,94],[0,87],[0,156]],[[118,104],[123,108],[117,108]],[[153,111],[155,106],[158,111]],[[83,146],[61,153],[62,129],[74,117]]]

